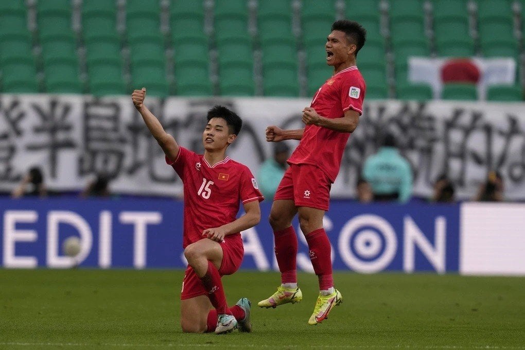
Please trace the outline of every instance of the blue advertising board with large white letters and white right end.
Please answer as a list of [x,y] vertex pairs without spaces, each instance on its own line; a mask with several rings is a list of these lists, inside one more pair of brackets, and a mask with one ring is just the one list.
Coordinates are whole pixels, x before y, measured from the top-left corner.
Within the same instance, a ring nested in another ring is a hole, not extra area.
[[[4,268],[184,268],[182,201],[162,199],[1,199]],[[243,232],[241,268],[277,270],[274,242],[262,220]],[[361,205],[334,200],[324,227],[337,270],[525,275],[525,205]],[[313,272],[297,222],[298,269]],[[77,258],[61,246],[78,236]]]

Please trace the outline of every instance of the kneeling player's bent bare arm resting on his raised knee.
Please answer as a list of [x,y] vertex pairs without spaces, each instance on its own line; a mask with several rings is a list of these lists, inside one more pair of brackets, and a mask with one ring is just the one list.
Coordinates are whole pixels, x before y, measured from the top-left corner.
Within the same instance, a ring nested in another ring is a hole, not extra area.
[[259,224],[259,221],[261,219],[259,201],[249,201],[245,203],[243,207],[246,214],[239,217],[235,221],[229,222],[226,225],[205,229],[202,232],[203,237],[207,237],[216,242],[220,242],[224,239],[224,237],[228,235],[247,230]]

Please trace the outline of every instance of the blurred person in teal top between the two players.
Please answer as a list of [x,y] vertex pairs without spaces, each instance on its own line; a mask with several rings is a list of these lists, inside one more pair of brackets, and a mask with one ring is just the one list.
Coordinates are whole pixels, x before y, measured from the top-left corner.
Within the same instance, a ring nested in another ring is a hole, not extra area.
[[277,187],[288,167],[286,161],[289,156],[290,147],[284,142],[278,142],[274,146],[274,157],[268,158],[261,164],[257,172],[257,182],[265,198],[274,198]]

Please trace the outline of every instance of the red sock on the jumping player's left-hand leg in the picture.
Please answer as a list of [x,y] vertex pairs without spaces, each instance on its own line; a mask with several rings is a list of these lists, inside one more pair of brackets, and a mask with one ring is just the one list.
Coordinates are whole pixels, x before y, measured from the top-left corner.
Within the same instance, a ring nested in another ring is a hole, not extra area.
[[281,271],[281,283],[297,283],[297,235],[293,226],[281,231],[274,231],[275,256],[279,271]]

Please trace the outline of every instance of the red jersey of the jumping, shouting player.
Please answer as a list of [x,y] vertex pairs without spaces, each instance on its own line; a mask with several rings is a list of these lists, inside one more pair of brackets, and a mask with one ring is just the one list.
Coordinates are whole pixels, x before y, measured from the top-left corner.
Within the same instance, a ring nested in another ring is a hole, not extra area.
[[[325,118],[342,118],[349,109],[363,113],[366,85],[358,67],[352,66],[334,74],[317,91],[310,107]],[[288,163],[312,164],[327,174],[333,183],[350,133],[338,132],[316,125],[304,128],[301,142]]]

